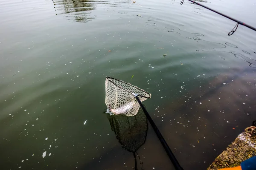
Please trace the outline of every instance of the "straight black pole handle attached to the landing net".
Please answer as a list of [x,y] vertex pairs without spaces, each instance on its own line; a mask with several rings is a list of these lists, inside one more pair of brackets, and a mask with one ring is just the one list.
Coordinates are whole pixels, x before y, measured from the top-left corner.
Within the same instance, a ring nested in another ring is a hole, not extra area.
[[148,121],[150,122],[151,126],[153,127],[155,133],[157,134],[158,139],[160,140],[161,144],[163,145],[163,148],[165,149],[165,151],[166,151],[167,155],[169,156],[170,160],[172,161],[172,164],[174,165],[175,169],[176,170],[183,170],[183,168],[180,166],[179,162],[175,158],[174,154],[172,153],[172,150],[170,149],[170,147],[168,146],[168,144],[164,140],[162,134],[158,130],[156,124],[153,121],[153,119],[149,115],[148,111],[144,108],[144,106],[143,106],[142,102],[140,101],[139,97],[137,96],[137,94],[133,94],[133,95],[135,96],[135,98],[137,99],[138,103],[140,104],[140,107],[142,108],[142,110],[144,111],[145,115],[147,116]]

